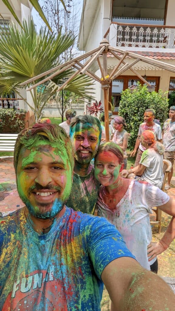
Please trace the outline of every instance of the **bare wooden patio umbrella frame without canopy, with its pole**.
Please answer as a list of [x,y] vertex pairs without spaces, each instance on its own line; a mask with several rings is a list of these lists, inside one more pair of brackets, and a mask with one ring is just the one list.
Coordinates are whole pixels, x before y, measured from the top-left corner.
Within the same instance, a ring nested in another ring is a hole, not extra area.
[[[107,73],[107,60],[108,60],[107,53],[111,53],[116,59],[119,60],[119,62],[114,67],[110,75],[108,75]],[[120,53],[122,56],[120,57],[117,53]],[[130,58],[133,58],[134,60],[131,63],[127,63],[125,61],[125,58],[127,56]],[[87,57],[88,57],[88,60],[84,64],[80,63],[80,61],[86,59]],[[101,57],[102,57],[102,65],[100,62]],[[93,73],[89,69],[95,61],[97,61],[98,67],[100,69],[100,72],[102,75],[101,78],[99,78],[95,73]],[[46,72],[43,72],[42,74],[21,83],[21,86],[25,84],[29,84],[30,82],[38,80],[41,77],[44,77],[47,75],[47,77],[44,78],[42,81],[36,83],[35,85],[27,89],[27,91],[30,91],[34,87],[39,86],[40,84],[43,84],[44,82],[52,79],[53,77],[57,76],[59,73],[64,72],[65,70],[70,69],[71,67],[75,69],[75,72],[67,81],[65,81],[61,86],[58,87],[57,91],[61,91],[62,89],[64,89],[64,87],[78,74],[86,74],[87,76],[98,81],[102,85],[103,94],[104,94],[105,133],[106,133],[106,142],[108,142],[109,141],[108,103],[109,103],[109,88],[110,88],[111,81],[116,79],[119,75],[121,75],[126,70],[130,69],[137,77],[139,77],[140,80],[142,80],[148,86],[151,86],[148,81],[146,81],[136,70],[132,68],[132,66],[134,66],[139,61],[143,61],[145,63],[160,67],[162,69],[165,69],[171,72],[175,72],[174,65],[160,62],[155,59],[150,59],[148,57],[139,55],[137,53],[132,53],[130,51],[125,51],[122,49],[118,49],[116,47],[112,47],[110,46],[109,42],[106,39],[102,39],[99,47],[97,47],[96,49],[93,49],[81,56],[71,59],[70,61],[66,63],[63,63]],[[121,64],[123,64],[123,66],[119,69],[119,66],[121,66]],[[48,76],[49,74],[50,76]]]

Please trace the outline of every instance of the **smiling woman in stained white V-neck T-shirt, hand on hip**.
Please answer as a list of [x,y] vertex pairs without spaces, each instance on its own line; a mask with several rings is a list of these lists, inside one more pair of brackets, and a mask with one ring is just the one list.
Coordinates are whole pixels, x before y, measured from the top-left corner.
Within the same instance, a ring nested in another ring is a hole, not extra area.
[[[175,200],[150,183],[122,178],[122,169],[121,148],[113,142],[100,145],[95,157],[95,177],[101,183],[96,204],[98,216],[116,226],[142,267],[157,273],[156,255],[162,253],[175,237]],[[149,221],[155,206],[173,216],[158,243],[151,242]]]

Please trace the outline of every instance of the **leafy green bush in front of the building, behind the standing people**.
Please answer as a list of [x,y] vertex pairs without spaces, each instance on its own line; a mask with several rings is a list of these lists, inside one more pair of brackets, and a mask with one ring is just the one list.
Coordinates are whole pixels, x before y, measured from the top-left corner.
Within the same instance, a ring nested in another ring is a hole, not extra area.
[[156,119],[161,125],[168,118],[167,92],[162,90],[149,92],[147,86],[138,84],[135,90],[126,89],[122,91],[119,106],[119,115],[125,118],[129,137],[128,148],[134,149],[135,141],[139,131],[140,123],[144,122],[143,115],[146,109],[153,108],[156,112]]

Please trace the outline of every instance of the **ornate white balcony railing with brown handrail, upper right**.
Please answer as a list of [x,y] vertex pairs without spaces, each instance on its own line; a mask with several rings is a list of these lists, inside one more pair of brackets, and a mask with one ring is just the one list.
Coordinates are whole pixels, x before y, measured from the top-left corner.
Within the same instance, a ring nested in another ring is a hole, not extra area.
[[115,46],[174,49],[175,27],[112,22],[104,38]]

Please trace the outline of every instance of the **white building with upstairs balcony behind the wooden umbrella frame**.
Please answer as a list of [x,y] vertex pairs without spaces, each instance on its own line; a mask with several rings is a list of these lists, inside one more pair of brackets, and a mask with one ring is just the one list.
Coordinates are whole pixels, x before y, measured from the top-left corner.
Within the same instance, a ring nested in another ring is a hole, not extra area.
[[[84,0],[78,47],[88,52],[106,38],[113,47],[175,65],[174,0]],[[119,54],[121,57],[121,55]],[[127,57],[130,63],[130,58]],[[108,53],[108,73],[118,60]],[[98,67],[97,67],[98,68]],[[101,77],[101,73],[93,71]],[[120,67],[119,67],[120,68]],[[133,67],[155,91],[175,90],[175,73],[139,61]],[[116,106],[122,90],[143,82],[129,69],[112,81],[110,92]],[[103,98],[96,83],[97,101]]]

